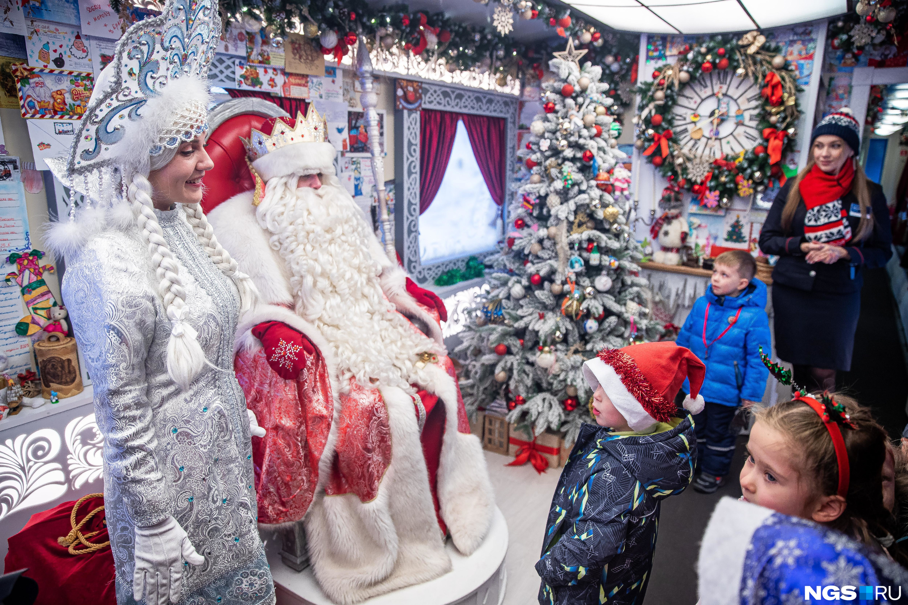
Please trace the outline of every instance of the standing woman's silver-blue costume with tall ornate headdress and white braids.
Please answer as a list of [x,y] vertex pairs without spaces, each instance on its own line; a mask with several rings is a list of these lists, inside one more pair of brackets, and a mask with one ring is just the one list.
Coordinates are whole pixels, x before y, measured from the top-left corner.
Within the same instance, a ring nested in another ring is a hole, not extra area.
[[[100,74],[69,158],[85,196],[48,240],[94,379],[104,503],[121,605],[274,602],[256,525],[251,430],[232,373],[253,288],[198,204],[154,210],[151,168],[207,129],[221,33],[212,0],[170,0]],[[185,559],[185,563],[183,563]],[[163,580],[155,582],[155,574]]]

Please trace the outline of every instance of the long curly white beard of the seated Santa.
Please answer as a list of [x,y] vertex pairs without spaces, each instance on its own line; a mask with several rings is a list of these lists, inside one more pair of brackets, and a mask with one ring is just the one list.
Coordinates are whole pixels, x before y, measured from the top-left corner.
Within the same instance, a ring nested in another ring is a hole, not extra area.
[[340,181],[296,189],[297,177],[271,179],[256,218],[271,248],[291,269],[297,314],[318,327],[338,360],[342,388],[350,376],[365,387],[399,386],[427,377],[419,353],[438,352],[381,291],[380,264],[369,252],[369,225]]

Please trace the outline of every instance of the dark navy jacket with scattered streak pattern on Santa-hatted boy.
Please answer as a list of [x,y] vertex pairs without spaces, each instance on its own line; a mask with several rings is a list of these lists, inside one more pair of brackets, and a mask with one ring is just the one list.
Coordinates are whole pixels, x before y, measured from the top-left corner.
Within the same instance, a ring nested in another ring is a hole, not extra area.
[[583,424],[548,512],[539,602],[641,603],[653,566],[659,504],[690,483],[690,415],[654,434]]

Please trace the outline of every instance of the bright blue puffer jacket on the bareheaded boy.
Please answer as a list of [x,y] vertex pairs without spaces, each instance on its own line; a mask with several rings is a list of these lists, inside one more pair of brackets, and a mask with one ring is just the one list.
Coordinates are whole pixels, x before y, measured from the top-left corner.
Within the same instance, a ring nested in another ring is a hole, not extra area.
[[[703,344],[703,320],[706,304],[709,304],[709,325],[706,326],[706,345]],[[772,350],[769,335],[769,317],[766,317],[766,286],[759,279],[751,279],[750,285],[735,298],[717,297],[712,285],[706,287],[706,294],[696,299],[688,314],[684,327],[678,332],[677,346],[686,346],[706,364],[706,377],[700,387],[700,395],[706,401],[722,405],[738,405],[742,399],[761,401],[766,389],[769,370],[760,361],[760,346],[768,355]],[[741,315],[725,336],[713,342],[729,327],[728,320],[734,318],[738,309]],[[685,393],[690,385],[684,384]]]

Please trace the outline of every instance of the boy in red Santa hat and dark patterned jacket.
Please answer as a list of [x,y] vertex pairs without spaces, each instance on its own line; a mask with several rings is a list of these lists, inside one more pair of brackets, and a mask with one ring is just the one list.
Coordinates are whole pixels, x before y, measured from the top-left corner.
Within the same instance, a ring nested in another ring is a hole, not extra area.
[[675,395],[703,409],[705,367],[673,342],[603,349],[583,366],[594,390],[590,414],[568,457],[548,512],[538,600],[543,605],[635,603],[646,595],[659,506],[690,483],[696,435]]

